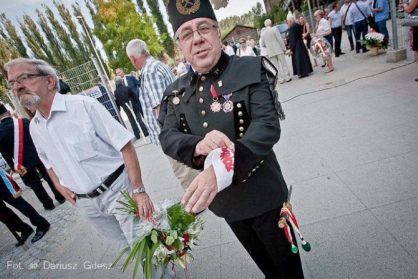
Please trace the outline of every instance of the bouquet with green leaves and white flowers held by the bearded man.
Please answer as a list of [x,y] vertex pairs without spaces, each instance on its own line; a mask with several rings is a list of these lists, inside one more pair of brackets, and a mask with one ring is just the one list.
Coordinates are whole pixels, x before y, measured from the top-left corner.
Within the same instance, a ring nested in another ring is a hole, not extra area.
[[[122,272],[134,261],[132,278],[134,279],[141,261],[143,261],[144,278],[152,278],[158,266],[165,268],[171,264],[176,274],[176,263],[183,269],[187,278],[187,262],[192,255],[193,246],[203,229],[203,221],[194,214],[185,211],[185,206],[179,200],[162,200],[154,203],[155,214],[152,217],[140,219],[136,202],[127,192],[121,192],[128,202],[118,200],[122,207],[117,209],[135,216],[134,237],[130,246],[119,255],[112,267],[131,248],[127,259],[122,265]],[[164,274],[162,275],[164,276]]]

